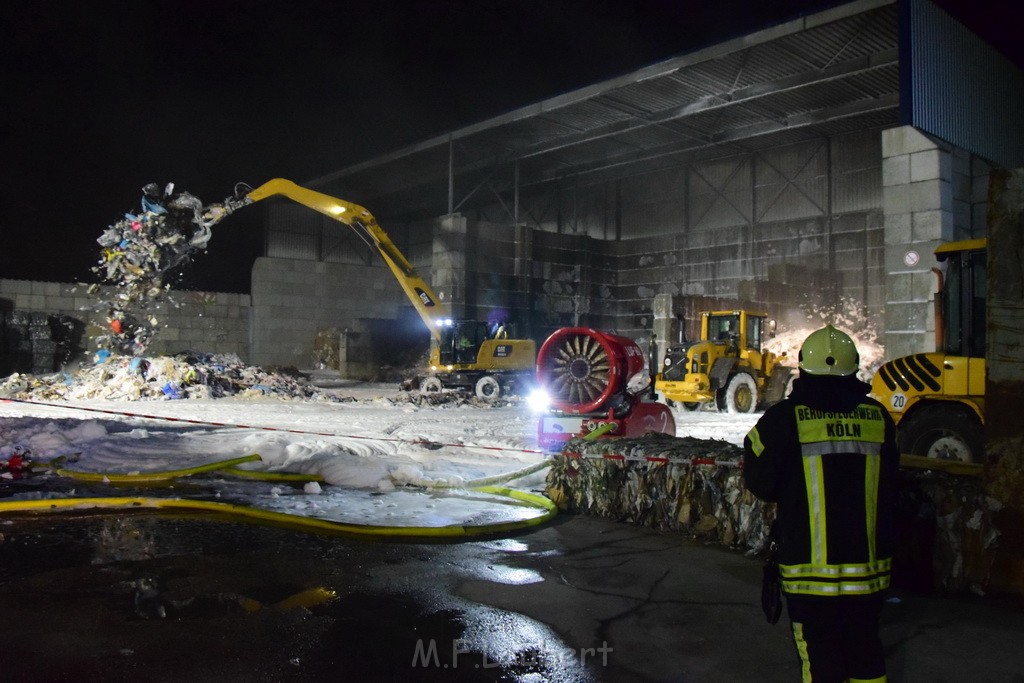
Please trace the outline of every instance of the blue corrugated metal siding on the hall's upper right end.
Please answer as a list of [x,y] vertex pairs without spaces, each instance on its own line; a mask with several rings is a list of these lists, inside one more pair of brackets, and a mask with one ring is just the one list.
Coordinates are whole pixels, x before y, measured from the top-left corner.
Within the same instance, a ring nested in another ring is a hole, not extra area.
[[927,0],[904,1],[911,125],[1009,168],[1024,165],[1024,73]]

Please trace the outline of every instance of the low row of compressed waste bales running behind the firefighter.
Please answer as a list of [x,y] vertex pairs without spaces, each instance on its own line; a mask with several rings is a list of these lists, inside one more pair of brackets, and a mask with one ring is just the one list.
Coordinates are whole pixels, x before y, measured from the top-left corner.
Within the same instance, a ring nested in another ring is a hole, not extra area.
[[[546,493],[558,507],[679,531],[750,554],[767,548],[775,506],[743,485],[742,449],[650,433],[573,438],[552,459]],[[998,552],[1000,506],[981,479],[903,468],[898,493],[898,584],[984,593]]]

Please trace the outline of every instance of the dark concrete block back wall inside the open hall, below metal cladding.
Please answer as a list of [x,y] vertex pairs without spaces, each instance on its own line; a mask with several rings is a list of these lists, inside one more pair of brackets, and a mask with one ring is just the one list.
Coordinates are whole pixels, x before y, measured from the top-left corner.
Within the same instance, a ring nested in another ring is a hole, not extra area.
[[[487,234],[490,232],[492,234]],[[477,248],[466,268],[476,291],[471,314],[485,316],[497,301],[528,291],[531,319],[543,341],[559,327],[590,326],[634,338],[650,334],[654,301],[732,301],[773,314],[819,310],[848,302],[881,328],[885,306],[880,209],[833,217],[679,232],[634,240],[596,240],[583,233],[530,232],[527,290],[515,290],[516,245],[510,226],[467,223]],[[505,236],[505,241],[495,237]],[[443,281],[441,281],[443,282]],[[440,287],[437,280],[435,286]],[[837,303],[839,302],[839,303]]]

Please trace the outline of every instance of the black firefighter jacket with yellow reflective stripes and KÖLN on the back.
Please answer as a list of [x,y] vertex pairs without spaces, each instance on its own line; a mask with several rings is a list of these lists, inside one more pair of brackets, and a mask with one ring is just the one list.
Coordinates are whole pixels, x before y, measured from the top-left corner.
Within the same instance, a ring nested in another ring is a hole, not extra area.
[[777,504],[782,590],[865,596],[889,587],[896,426],[854,376],[802,375],[743,441],[743,477]]

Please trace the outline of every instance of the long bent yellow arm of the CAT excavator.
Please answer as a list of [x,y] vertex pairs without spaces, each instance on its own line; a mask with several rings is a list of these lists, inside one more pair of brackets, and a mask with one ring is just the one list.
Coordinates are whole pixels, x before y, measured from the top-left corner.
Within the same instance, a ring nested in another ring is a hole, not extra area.
[[394,273],[398,285],[406,292],[406,296],[413,302],[416,312],[427,326],[431,337],[435,341],[440,341],[440,329],[437,322],[449,317],[445,306],[433,293],[430,286],[417,273],[413,264],[391,242],[374,215],[364,207],[301,187],[291,180],[274,178],[243,196],[227,200],[224,203],[224,208],[226,213],[232,213],[238,209],[279,195],[348,225],[359,233],[360,238],[376,247],[384,262]]

